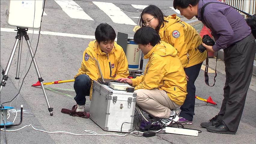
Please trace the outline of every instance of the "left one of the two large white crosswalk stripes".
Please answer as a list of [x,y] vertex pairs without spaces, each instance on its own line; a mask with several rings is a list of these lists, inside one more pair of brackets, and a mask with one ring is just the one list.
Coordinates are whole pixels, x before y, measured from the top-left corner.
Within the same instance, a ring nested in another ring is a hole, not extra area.
[[75,1],[54,0],[71,18],[93,20]]

